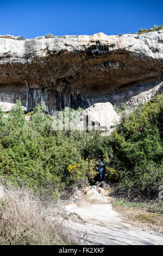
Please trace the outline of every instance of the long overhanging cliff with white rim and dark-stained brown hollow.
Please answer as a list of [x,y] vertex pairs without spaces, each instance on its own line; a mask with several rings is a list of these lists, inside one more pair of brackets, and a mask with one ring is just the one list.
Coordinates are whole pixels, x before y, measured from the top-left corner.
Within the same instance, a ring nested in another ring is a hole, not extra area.
[[142,35],[0,38],[0,101],[48,112],[121,103],[163,80],[163,30]]

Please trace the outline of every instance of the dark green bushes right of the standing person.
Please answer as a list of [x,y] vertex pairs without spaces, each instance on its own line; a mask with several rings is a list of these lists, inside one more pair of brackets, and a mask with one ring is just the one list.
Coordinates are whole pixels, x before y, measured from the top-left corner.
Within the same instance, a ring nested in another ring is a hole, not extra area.
[[129,116],[124,115],[116,131],[106,139],[106,152],[112,153],[108,166],[116,170],[117,192],[121,195],[158,196],[163,175],[162,106],[163,95],[158,95]]

